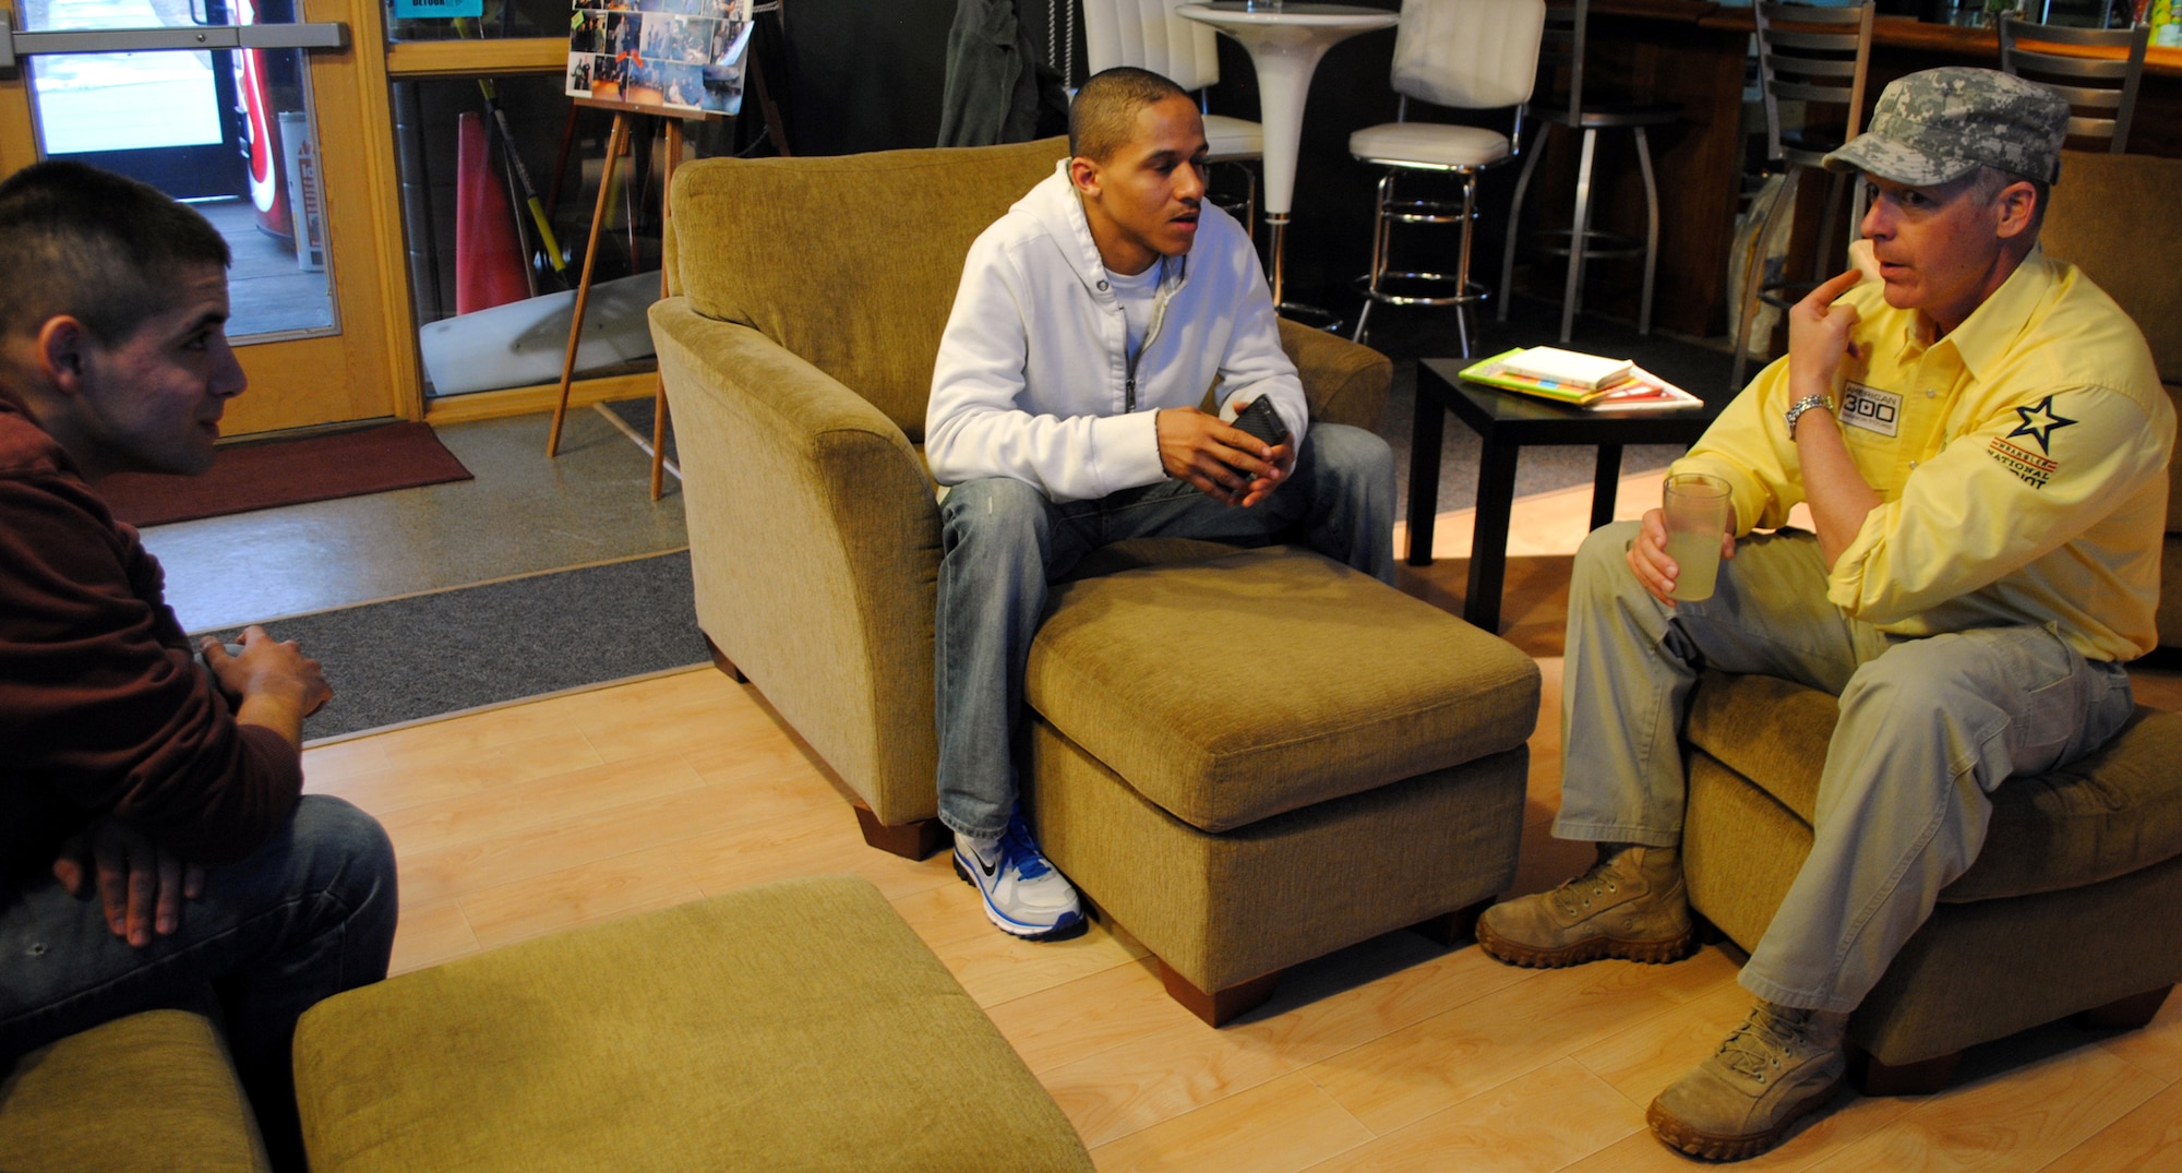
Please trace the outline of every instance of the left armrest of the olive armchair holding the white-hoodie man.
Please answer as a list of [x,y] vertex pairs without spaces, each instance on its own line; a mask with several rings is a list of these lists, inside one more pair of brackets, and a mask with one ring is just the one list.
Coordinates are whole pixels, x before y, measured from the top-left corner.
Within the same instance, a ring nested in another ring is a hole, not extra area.
[[650,323],[698,626],[882,822],[930,818],[940,530],[916,449],[755,329],[681,297]]

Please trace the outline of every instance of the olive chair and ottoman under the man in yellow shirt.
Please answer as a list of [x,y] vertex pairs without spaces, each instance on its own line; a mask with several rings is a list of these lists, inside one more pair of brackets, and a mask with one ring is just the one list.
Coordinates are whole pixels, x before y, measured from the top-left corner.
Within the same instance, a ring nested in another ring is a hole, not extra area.
[[[2069,153],[2045,246],[2138,321],[2182,399],[2175,192],[2182,159]],[[2182,645],[2182,482],[2167,517],[2158,624],[2165,645]],[[1835,717],[1835,698],[1767,676],[1709,672],[1691,698],[1689,898],[1746,948],[1811,848]],[[2158,1012],[2182,979],[2175,763],[2182,715],[2138,706],[2097,754],[1994,791],[1977,863],[1850,1018],[1866,1090],[1935,1090],[1964,1047],[2055,1018],[2143,1025]]]

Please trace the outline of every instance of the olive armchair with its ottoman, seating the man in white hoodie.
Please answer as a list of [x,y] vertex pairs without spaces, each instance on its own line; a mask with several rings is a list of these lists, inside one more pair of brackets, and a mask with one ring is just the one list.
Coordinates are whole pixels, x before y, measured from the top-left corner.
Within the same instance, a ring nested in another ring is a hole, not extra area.
[[[698,624],[901,855],[943,842],[932,366],[971,240],[1063,155],[674,174],[672,297],[650,321]],[[1294,323],[1281,342],[1314,423],[1377,423],[1383,355]],[[1111,547],[1054,591],[1023,696],[1041,844],[1213,1025],[1364,938],[1462,935],[1514,876],[1536,665],[1307,549]]]

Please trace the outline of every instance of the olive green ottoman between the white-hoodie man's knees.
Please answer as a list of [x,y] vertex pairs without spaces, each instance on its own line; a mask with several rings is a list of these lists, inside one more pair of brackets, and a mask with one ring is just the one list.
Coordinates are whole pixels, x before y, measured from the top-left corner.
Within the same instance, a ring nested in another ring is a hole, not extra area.
[[1039,842],[1207,1023],[1514,879],[1538,665],[1318,554],[1058,586],[1026,700]]

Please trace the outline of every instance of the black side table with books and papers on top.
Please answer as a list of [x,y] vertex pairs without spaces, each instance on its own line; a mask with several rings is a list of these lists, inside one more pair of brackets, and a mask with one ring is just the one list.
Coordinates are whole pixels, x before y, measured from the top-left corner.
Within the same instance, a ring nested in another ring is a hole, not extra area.
[[1471,539],[1471,586],[1462,617],[1499,632],[1499,595],[1508,578],[1508,512],[1514,508],[1514,458],[1523,445],[1597,445],[1591,528],[1615,519],[1623,445],[1693,445],[1735,395],[1693,390],[1702,408],[1671,412],[1586,412],[1512,390],[1462,382],[1471,360],[1427,358],[1416,364],[1416,423],[1410,434],[1410,565],[1431,565],[1431,530],[1440,501],[1442,412],[1484,440],[1477,462],[1477,530]]

